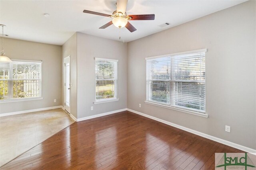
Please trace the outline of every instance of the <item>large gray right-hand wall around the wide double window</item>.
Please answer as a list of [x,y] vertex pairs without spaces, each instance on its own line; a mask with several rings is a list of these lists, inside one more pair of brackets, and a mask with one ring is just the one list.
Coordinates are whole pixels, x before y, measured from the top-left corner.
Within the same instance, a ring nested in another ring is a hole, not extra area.
[[[255,21],[255,1],[248,1],[128,43],[127,107],[256,149]],[[144,103],[145,57],[203,48],[208,118]]]

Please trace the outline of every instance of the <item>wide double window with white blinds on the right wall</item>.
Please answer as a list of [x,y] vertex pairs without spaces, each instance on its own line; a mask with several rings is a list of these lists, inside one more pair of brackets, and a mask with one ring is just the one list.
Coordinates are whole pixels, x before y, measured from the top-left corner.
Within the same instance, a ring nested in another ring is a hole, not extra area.
[[205,52],[146,58],[147,101],[205,113]]

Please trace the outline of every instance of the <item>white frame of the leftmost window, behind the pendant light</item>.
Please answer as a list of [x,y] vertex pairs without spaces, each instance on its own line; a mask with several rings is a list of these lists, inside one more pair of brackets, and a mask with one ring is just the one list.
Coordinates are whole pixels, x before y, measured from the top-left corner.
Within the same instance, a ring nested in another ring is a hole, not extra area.
[[[10,98],[7,100],[0,100],[1,103],[9,103],[9,102],[23,102],[23,101],[30,101],[30,100],[42,100],[42,63],[43,61],[34,61],[34,60],[20,60],[20,59],[12,59],[13,62],[25,62],[25,63],[40,63],[41,64],[41,77],[40,77],[40,96],[36,97],[25,97],[25,98]],[[10,62],[12,63],[12,62]],[[10,72],[12,72],[10,70]],[[10,86],[10,83],[8,83],[8,86]],[[13,97],[13,94],[12,94]]]

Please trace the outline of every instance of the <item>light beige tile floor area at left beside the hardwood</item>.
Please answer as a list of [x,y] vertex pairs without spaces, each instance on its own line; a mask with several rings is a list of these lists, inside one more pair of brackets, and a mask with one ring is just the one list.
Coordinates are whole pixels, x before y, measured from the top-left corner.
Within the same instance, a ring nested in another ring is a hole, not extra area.
[[0,117],[0,166],[72,123],[61,108]]

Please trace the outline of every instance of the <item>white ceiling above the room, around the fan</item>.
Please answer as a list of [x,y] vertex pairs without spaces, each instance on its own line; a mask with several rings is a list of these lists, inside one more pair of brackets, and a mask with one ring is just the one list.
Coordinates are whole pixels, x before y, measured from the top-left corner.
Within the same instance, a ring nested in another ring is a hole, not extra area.
[[[155,14],[153,21],[130,21],[137,31],[114,25],[98,29],[111,18],[83,10],[112,14],[115,0],[0,0],[0,24],[10,38],[62,45],[76,31],[123,42],[229,8],[247,0],[128,0],[127,14]],[[50,16],[43,16],[44,13]],[[160,27],[165,22],[170,25]]]

